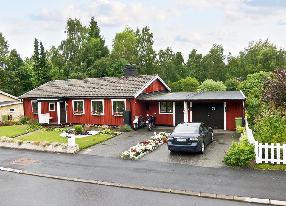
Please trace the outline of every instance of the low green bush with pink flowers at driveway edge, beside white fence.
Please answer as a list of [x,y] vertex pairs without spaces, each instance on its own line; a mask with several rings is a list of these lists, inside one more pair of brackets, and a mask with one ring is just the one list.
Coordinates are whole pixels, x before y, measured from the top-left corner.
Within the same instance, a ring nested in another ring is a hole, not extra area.
[[254,144],[250,144],[247,138],[240,142],[232,141],[229,151],[224,154],[223,162],[231,166],[245,166],[255,159]]

